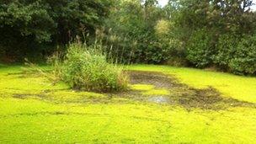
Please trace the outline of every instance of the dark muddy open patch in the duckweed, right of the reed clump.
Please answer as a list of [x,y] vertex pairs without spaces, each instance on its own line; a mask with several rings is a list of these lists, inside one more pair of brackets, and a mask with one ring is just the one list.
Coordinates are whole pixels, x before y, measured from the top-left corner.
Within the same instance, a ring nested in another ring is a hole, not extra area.
[[[228,109],[230,107],[250,107],[256,109],[256,104],[239,101],[221,96],[215,88],[197,89],[184,83],[179,83],[175,77],[161,72],[127,72],[133,86],[141,86],[131,93],[130,98],[146,100],[157,104],[177,104],[185,109]],[[143,88],[142,86],[145,86]],[[148,87],[146,87],[148,86]],[[144,89],[144,90],[143,90]],[[152,93],[168,90],[168,93]],[[147,93],[145,96],[143,93]],[[129,93],[128,93],[129,94]]]

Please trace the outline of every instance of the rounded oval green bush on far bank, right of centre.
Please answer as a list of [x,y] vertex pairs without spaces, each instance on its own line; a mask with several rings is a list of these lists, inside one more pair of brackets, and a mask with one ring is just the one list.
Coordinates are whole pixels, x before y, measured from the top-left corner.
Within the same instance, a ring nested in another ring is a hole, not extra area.
[[195,31],[186,46],[186,57],[195,67],[206,67],[214,55],[213,37],[205,29]]

